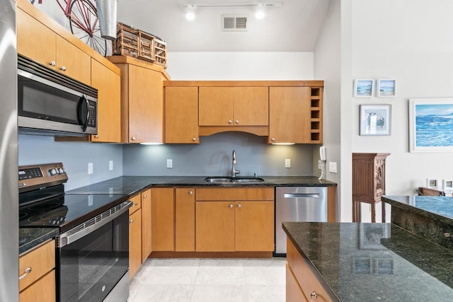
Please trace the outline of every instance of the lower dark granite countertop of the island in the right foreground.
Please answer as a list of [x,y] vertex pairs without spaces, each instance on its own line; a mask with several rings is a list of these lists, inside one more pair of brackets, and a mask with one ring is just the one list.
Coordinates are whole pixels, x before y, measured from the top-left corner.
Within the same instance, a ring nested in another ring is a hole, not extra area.
[[340,301],[453,301],[453,251],[394,224],[283,228]]

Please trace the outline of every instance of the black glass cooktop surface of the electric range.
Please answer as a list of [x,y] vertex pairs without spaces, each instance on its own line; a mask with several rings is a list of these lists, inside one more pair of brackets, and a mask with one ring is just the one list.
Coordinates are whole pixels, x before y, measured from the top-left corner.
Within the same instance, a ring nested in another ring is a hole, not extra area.
[[59,227],[62,232],[127,200],[122,194],[62,194],[19,208],[19,227]]

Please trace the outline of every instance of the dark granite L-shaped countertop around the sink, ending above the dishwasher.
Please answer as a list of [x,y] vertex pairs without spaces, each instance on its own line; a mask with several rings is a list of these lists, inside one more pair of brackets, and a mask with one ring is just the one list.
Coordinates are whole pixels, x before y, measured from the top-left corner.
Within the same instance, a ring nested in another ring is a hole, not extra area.
[[315,176],[259,176],[263,182],[253,183],[210,183],[206,176],[120,176],[92,185],[67,191],[67,194],[130,194],[148,187],[297,187],[336,186],[335,182],[318,180]]

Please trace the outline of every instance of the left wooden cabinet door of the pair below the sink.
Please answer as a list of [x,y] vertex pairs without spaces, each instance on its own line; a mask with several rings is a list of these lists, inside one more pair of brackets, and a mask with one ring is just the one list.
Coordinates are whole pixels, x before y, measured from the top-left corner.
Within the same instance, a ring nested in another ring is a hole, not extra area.
[[197,252],[234,251],[234,202],[196,203]]

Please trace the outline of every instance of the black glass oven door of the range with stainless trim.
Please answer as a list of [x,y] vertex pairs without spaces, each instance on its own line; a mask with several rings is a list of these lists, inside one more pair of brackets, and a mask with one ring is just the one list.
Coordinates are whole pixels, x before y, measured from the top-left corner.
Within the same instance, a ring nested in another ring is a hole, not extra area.
[[[87,235],[60,236],[57,250],[57,297],[59,301],[103,301],[127,278],[129,296],[129,214],[128,207],[114,219],[90,230]],[[116,213],[117,214],[117,213]],[[113,215],[112,215],[113,216]],[[96,223],[95,223],[96,224]],[[91,228],[93,226],[88,226]],[[76,235],[76,234],[75,234]],[[118,300],[120,301],[120,300]]]

